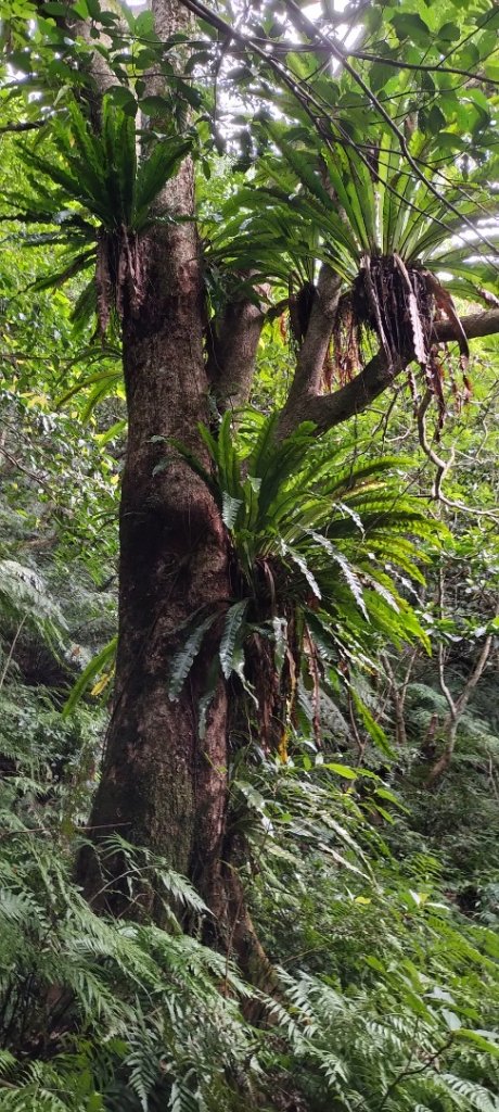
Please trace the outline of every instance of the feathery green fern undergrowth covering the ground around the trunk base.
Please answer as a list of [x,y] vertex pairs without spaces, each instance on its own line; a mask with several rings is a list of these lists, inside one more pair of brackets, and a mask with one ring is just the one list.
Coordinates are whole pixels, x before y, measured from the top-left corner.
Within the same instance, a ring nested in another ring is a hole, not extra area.
[[1,794],[1,1109],[498,1108],[497,937],[456,916],[435,858],[402,873],[366,817],[363,783],[397,813],[375,774],[240,763],[267,997],[182,931],[209,914],[189,883],[116,834],[102,884],[119,851],[132,897],[162,891],[168,926],[94,914],[71,878],[84,831],[60,805],[74,777],[54,783],[50,753],[27,748]]

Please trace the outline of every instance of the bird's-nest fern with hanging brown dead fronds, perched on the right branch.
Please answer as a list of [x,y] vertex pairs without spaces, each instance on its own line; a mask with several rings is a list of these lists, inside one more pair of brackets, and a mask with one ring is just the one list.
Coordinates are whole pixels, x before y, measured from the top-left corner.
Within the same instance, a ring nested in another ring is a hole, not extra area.
[[332,153],[303,128],[265,127],[279,158],[263,158],[256,185],[229,199],[214,258],[232,269],[252,265],[259,281],[281,288],[292,277],[309,304],[311,274],[326,262],[343,284],[333,331],[339,381],[359,368],[366,329],[389,364],[413,354],[442,416],[433,321],[442,314],[452,321],[466,370],[468,344],[451,295],[477,301],[497,282],[497,159],[466,177],[459,166],[443,171],[435,140],[417,133],[411,156],[421,180],[388,129],[376,148],[343,140]]

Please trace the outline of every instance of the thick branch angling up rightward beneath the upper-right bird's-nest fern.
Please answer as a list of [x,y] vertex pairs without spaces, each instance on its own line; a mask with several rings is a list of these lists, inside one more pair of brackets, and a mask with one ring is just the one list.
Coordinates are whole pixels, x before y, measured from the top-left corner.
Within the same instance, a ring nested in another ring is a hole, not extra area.
[[[492,336],[499,332],[499,309],[470,314],[462,318],[461,324],[468,339]],[[437,339],[442,342],[455,339],[455,329],[450,321],[438,321],[435,331]],[[315,421],[318,431],[325,433],[328,428],[353,417],[355,414],[362,413],[375,398],[391,386],[393,379],[411,359],[412,351],[407,349],[400,353],[399,358],[390,366],[386,354],[378,351],[360,375],[333,394],[319,396],[317,393],[305,390],[292,398],[291,390],[282,410],[281,435],[287,436],[303,420]]]

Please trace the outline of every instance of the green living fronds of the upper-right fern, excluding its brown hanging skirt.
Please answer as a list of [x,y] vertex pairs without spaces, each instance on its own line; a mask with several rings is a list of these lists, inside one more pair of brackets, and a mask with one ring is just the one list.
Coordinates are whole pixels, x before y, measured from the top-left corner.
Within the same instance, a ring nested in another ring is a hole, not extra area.
[[[476,167],[466,177],[458,168],[443,173],[437,166],[431,168],[431,142],[419,136],[412,152],[425,168],[428,160],[425,182],[408,167],[390,131],[383,132],[379,146],[367,153],[353,143],[338,143],[332,155],[313,145],[310,135],[301,129],[290,133],[276,122],[266,128],[280,158],[263,159],[256,188],[244,186],[227,202],[228,222],[213,241],[219,257],[226,252],[229,262],[239,266],[242,252],[250,249],[249,241],[253,247],[255,231],[257,265],[260,244],[266,247],[263,271],[272,257],[269,234],[277,232],[269,278],[280,278],[285,271],[285,259],[280,266],[277,259],[283,247],[293,260],[313,255],[329,262],[347,284],[353,282],[366,255],[399,255],[406,266],[435,274],[445,266],[446,271],[463,279],[462,297],[472,296],[469,284],[475,278],[481,286],[493,286],[498,260],[491,259],[490,252],[480,257],[469,241],[463,241],[462,234],[465,221],[471,222],[479,239],[481,227],[499,211],[499,200],[490,188],[497,159]],[[439,191],[439,198],[432,188]],[[449,211],[449,206],[457,212]],[[470,235],[468,231],[468,240]],[[493,229],[487,235],[497,238]],[[455,246],[456,239],[459,246]],[[473,294],[476,297],[476,289]]]

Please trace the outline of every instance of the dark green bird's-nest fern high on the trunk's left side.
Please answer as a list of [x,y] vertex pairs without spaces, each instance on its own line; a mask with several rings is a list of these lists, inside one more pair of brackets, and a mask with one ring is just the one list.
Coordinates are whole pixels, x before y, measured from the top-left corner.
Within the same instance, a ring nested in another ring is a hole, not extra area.
[[62,286],[93,270],[73,319],[82,324],[96,311],[102,335],[113,310],[122,317],[127,306],[137,315],[142,305],[146,234],[174,219],[156,211],[154,200],[192,147],[191,137],[171,135],[138,157],[140,138],[144,135],[139,136],[133,117],[110,96],[102,100],[99,132],[91,130],[79,106],[70,103],[64,117],[52,123],[50,152],[22,146],[31,192],[2,198],[16,209],[4,219],[50,228],[27,236],[27,246],[62,247],[61,269],[39,279],[34,288]]

